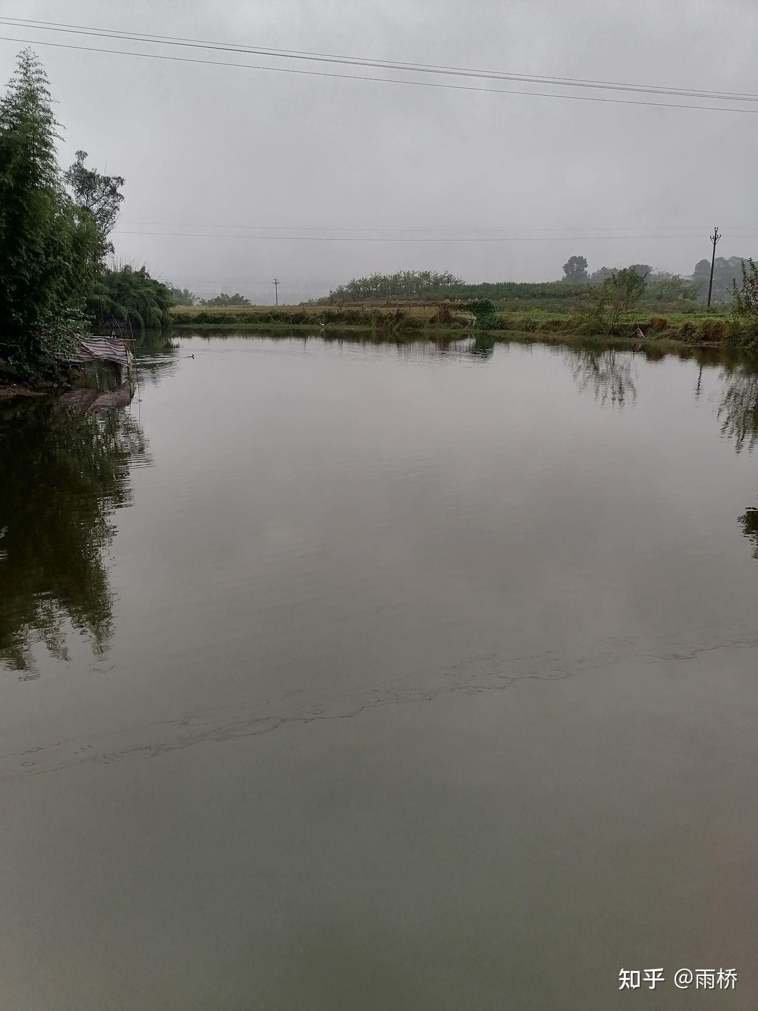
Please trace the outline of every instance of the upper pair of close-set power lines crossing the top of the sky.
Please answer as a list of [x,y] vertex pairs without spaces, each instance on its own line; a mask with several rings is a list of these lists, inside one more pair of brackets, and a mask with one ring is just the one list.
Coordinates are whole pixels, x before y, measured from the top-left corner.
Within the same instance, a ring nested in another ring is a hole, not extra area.
[[750,92],[715,91],[710,89],[670,87],[666,85],[632,84],[621,81],[598,81],[588,78],[516,74],[505,71],[452,67],[445,64],[423,64],[415,61],[405,62],[396,60],[377,60],[368,57],[345,56],[333,53],[313,53],[307,50],[282,50],[271,47],[247,45],[240,42],[216,42],[206,39],[187,38],[181,35],[160,35],[148,32],[122,31],[114,28],[96,28],[91,25],[70,24],[62,21],[40,21],[30,18],[0,17],[0,23],[5,23],[15,27],[32,27],[37,30],[84,34],[99,38],[126,39],[130,41],[152,42],[160,45],[213,50],[223,53],[254,54],[256,56],[270,56],[276,59],[337,63],[354,67],[374,67],[380,70],[400,70],[409,73],[477,77],[499,81],[519,81],[522,83],[530,84],[557,84],[562,87],[572,88],[602,88],[613,91],[634,91],[645,94],[660,94],[689,98],[715,98],[748,102],[758,101],[758,94]]

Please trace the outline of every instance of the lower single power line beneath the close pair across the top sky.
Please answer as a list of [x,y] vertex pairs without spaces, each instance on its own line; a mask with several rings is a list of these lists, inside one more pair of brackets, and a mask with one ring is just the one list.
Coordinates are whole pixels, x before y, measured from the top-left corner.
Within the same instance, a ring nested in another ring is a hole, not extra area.
[[440,81],[402,81],[393,77],[371,77],[362,74],[333,74],[326,71],[300,70],[293,67],[263,67],[258,64],[240,64],[221,60],[198,60],[194,57],[173,57],[163,53],[133,53],[126,50],[104,50],[92,45],[74,45],[68,42],[46,42],[37,38],[16,38],[0,35],[0,41],[23,42],[28,45],[48,45],[59,50],[74,50],[80,53],[104,53],[108,56],[140,57],[145,60],[164,60],[172,63],[199,64],[212,67],[236,67],[240,70],[262,70],[278,74],[299,74],[306,77],[334,78],[342,81],[372,81],[383,84],[404,84],[415,88],[442,88],[446,91],[472,91],[494,95],[526,95],[531,98],[563,98],[575,102],[601,102],[611,105],[640,105],[652,108],[695,109],[704,112],[758,113],[758,109],[734,108],[729,105],[687,105],[682,102],[647,102],[640,99],[601,98],[597,95],[565,95],[549,91],[517,91],[509,88],[482,88],[476,85],[444,84]]

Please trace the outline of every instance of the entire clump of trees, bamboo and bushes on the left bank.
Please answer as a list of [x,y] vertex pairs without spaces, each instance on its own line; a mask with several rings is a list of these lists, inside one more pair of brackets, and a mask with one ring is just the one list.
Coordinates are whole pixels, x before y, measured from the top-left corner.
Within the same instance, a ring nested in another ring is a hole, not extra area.
[[123,179],[88,168],[83,151],[62,173],[58,128],[48,78],[24,50],[0,99],[0,372],[15,380],[60,380],[95,320],[169,318],[168,288],[145,268],[104,263]]

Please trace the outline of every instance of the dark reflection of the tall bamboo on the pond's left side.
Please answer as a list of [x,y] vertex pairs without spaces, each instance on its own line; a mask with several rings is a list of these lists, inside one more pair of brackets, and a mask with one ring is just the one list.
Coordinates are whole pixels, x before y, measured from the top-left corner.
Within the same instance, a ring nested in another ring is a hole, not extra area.
[[105,551],[131,501],[129,466],[148,462],[125,410],[22,401],[0,411],[0,660],[34,676],[32,648],[68,659],[65,626],[95,654],[113,630]]

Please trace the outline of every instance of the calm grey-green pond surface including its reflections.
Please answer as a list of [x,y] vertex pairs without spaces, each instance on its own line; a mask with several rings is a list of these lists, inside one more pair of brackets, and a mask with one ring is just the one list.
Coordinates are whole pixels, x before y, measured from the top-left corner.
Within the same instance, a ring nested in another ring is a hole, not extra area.
[[758,365],[175,343],[0,410],[0,1007],[754,1009]]

